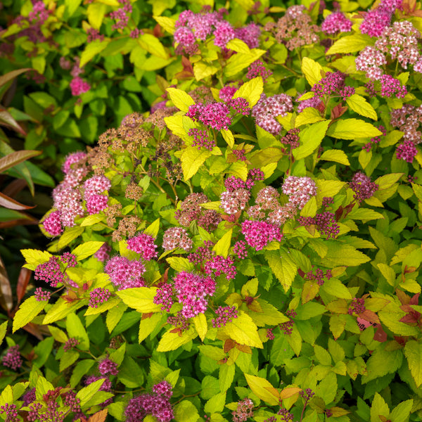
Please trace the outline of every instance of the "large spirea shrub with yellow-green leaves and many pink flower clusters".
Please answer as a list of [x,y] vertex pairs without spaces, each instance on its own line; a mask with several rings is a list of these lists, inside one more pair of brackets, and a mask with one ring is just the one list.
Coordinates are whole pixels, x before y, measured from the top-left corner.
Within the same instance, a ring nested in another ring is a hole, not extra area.
[[65,158],[22,250],[4,420],[421,419],[421,10],[359,5],[154,16],[162,98]]

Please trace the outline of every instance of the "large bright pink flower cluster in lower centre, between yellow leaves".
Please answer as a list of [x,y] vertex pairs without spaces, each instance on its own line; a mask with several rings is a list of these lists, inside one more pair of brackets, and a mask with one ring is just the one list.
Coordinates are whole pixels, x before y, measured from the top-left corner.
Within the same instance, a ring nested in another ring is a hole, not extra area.
[[181,314],[185,318],[193,318],[207,309],[207,296],[214,295],[215,280],[210,276],[204,278],[199,274],[181,271],[174,277],[174,290],[177,300],[183,305]]

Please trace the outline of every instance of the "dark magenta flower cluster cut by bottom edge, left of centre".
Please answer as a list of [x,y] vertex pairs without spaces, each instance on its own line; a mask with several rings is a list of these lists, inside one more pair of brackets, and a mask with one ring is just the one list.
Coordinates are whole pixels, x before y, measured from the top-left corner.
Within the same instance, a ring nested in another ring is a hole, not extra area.
[[124,415],[127,422],[143,421],[146,415],[151,414],[158,422],[170,422],[174,418],[170,397],[172,386],[167,381],[153,386],[153,392],[134,397],[129,400]]

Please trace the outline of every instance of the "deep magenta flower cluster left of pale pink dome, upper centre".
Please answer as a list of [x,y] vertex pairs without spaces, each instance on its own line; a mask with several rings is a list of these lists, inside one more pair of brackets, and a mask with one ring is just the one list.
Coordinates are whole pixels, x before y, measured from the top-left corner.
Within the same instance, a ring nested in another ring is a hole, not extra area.
[[224,103],[193,104],[189,106],[186,116],[216,130],[229,129],[231,125],[230,110]]

